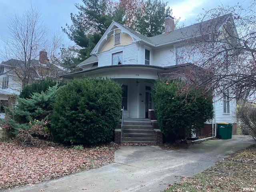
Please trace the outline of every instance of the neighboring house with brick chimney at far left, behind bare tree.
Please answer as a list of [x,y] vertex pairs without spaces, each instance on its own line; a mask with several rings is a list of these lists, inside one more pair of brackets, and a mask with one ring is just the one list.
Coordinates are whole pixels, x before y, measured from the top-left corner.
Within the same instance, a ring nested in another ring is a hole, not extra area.
[[[15,102],[15,99],[10,98],[22,91],[22,82],[17,78],[17,74],[23,68],[24,62],[21,60],[10,59],[0,63],[0,118],[5,117],[4,106],[10,106]],[[27,70],[34,81],[58,77],[64,73],[58,66],[49,63],[47,52],[44,50],[40,51],[39,60],[30,60],[30,68]]]

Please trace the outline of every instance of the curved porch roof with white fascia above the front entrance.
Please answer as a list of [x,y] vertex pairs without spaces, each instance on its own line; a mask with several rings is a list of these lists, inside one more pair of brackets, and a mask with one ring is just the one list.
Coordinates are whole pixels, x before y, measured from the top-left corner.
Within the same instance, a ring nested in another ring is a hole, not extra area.
[[195,65],[191,63],[168,66],[168,67],[160,67],[160,66],[153,66],[153,65],[138,65],[138,64],[111,65],[111,66],[102,66],[102,67],[82,70],[82,71],[78,71],[70,74],[65,74],[60,77],[73,79],[73,78],[82,78],[84,76],[88,76],[88,77],[109,76],[110,78],[157,79],[161,74],[166,74],[166,73],[177,71],[184,68],[186,69],[189,67],[195,67]]

